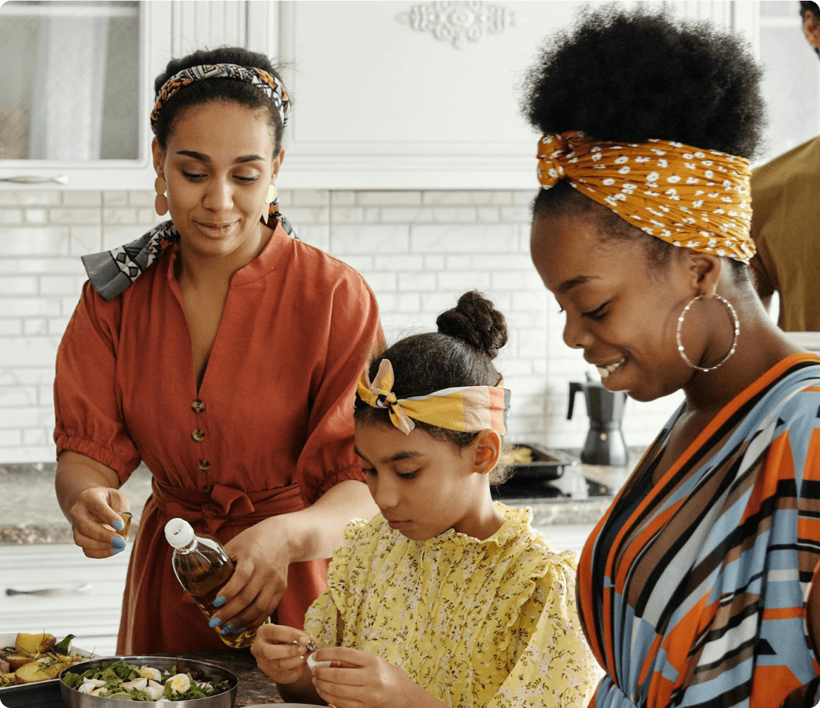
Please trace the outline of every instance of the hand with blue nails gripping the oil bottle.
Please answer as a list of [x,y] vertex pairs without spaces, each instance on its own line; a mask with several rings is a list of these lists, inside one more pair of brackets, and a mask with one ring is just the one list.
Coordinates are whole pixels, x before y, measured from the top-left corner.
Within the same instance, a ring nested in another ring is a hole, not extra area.
[[[279,605],[288,587],[291,558],[276,526],[285,517],[267,519],[225,543],[235,560],[234,574],[216,597],[214,619],[221,632],[241,634],[258,627]],[[220,600],[224,598],[224,600]],[[224,605],[224,606],[223,606]]]

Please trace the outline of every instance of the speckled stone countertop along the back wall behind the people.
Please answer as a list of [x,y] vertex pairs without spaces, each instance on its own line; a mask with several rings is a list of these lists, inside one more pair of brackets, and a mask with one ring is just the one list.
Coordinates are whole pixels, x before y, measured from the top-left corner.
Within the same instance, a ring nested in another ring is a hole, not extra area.
[[[576,451],[577,452],[577,451]],[[613,495],[620,489],[640,457],[640,450],[630,451],[626,467],[576,465],[567,468],[563,483],[592,483],[597,496],[587,499],[508,498],[511,506],[530,506],[533,526],[553,524],[594,524],[604,514]],[[0,545],[24,543],[71,543],[71,526],[57,504],[54,492],[56,463],[0,465]],[[122,485],[134,513],[134,527],[139,524],[145,500],[151,493],[151,473],[144,465]]]

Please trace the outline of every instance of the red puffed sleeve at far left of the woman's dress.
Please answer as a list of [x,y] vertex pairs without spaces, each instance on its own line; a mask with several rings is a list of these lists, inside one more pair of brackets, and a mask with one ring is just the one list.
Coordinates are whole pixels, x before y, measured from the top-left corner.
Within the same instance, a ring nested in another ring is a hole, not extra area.
[[116,395],[120,314],[119,302],[104,302],[85,283],[57,349],[54,442],[58,456],[80,452],[112,468],[124,482],[140,457]]

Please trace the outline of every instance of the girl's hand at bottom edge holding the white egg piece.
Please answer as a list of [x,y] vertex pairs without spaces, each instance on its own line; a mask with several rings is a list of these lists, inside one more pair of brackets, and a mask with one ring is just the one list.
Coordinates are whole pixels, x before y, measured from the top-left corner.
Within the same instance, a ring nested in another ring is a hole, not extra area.
[[[313,658],[333,662],[313,669],[313,685],[322,698],[337,708],[444,706],[401,669],[369,651],[333,647],[320,649]],[[353,668],[336,668],[337,665]]]

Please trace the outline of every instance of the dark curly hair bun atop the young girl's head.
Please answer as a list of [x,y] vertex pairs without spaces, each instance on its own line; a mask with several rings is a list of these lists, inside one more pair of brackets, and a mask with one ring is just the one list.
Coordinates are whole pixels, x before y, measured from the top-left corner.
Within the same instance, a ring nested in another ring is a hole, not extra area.
[[472,290],[458,298],[458,305],[442,312],[435,324],[441,334],[461,339],[490,359],[507,343],[507,320],[493,303]]

